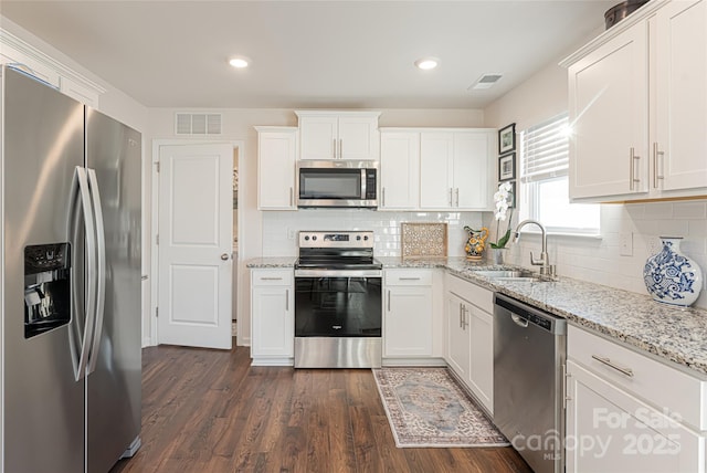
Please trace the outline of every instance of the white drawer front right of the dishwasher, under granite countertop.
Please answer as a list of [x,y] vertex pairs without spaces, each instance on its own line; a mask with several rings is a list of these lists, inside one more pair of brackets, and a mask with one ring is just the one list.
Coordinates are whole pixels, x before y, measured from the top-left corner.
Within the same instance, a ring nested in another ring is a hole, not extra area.
[[568,327],[567,356],[658,410],[679,416],[678,421],[707,429],[707,381],[572,325]]

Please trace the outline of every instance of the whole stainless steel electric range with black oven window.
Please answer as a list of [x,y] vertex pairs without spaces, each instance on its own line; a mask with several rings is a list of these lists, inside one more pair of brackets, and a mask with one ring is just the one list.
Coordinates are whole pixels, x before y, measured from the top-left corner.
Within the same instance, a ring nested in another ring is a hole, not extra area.
[[381,286],[373,232],[299,232],[295,368],[380,367]]

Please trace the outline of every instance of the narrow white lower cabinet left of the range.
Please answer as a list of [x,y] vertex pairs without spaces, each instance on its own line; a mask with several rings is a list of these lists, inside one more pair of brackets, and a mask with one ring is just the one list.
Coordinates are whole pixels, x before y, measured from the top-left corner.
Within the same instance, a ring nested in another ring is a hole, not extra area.
[[295,343],[294,272],[251,272],[251,358],[253,365],[293,365]]

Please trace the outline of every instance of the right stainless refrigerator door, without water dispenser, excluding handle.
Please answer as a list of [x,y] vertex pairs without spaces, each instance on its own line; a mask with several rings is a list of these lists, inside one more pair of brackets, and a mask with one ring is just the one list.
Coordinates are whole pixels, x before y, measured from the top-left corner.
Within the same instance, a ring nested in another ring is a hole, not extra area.
[[105,305],[87,377],[87,472],[105,473],[140,433],[140,134],[86,109],[86,166],[95,170],[105,228]]

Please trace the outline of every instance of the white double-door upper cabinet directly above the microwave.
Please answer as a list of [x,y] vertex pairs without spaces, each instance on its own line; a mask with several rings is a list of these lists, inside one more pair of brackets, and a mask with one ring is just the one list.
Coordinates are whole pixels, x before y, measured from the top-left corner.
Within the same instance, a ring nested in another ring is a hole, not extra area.
[[378,160],[379,112],[295,112],[299,159]]

